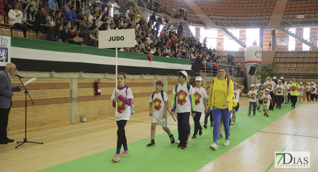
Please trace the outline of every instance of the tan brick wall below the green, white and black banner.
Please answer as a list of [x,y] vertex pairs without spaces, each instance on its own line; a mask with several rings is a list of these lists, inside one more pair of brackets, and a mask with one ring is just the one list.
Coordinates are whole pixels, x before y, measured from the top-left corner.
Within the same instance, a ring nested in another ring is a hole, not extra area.
[[[130,76],[131,77],[131,76]],[[113,77],[114,78],[114,77]],[[150,78],[150,77],[149,77]],[[165,78],[164,76],[158,78]],[[30,78],[25,77],[23,82]],[[93,84],[96,79],[77,78],[77,118],[71,121],[71,79],[65,78],[38,78],[27,85],[30,96],[35,105],[27,97],[27,130],[37,130],[48,127],[80,122],[80,116],[87,115],[87,120],[96,120],[114,117],[114,108],[110,99],[115,80],[110,78],[100,79],[101,95],[94,95]],[[149,97],[154,92],[154,84],[158,79],[127,79],[128,85],[134,95],[135,110],[148,111]],[[163,80],[163,79],[160,79]],[[193,80],[193,79],[192,79]],[[192,81],[191,80],[191,81]],[[13,77],[12,85],[19,85],[19,80]],[[189,82],[189,79],[187,79]],[[233,80],[235,81],[235,80]],[[177,79],[165,79],[169,100],[172,90],[178,84]],[[206,85],[211,85],[212,79],[206,80]],[[236,81],[241,84],[241,81]],[[192,84],[192,83],[191,83]],[[25,122],[25,95],[16,92],[12,98],[12,107],[9,114],[8,134],[24,132]],[[76,104],[75,104],[76,105]],[[170,101],[169,101],[170,106]]]

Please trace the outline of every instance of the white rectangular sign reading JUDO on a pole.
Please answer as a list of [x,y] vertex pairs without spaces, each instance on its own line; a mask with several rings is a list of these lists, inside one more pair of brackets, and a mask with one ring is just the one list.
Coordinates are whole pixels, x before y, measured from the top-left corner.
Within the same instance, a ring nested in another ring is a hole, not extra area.
[[135,46],[135,29],[98,32],[98,48],[122,48]]

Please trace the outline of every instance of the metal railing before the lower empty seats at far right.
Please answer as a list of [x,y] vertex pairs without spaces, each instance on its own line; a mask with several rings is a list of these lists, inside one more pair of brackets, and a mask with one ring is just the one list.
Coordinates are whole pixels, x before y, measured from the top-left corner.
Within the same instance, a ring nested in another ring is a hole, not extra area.
[[[273,74],[279,73],[282,77],[297,77],[297,79],[304,78],[313,78],[317,79],[318,69],[316,68],[273,68],[276,72],[272,72]],[[277,72],[278,70],[282,70]],[[291,72],[291,70],[293,70]],[[316,70],[316,72],[315,72]]]

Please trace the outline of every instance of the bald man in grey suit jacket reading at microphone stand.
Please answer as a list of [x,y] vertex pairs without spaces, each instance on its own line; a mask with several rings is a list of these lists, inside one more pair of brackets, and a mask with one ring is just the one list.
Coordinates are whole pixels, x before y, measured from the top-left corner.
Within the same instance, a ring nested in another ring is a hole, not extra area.
[[17,70],[13,63],[8,63],[5,70],[0,73],[0,144],[8,144],[14,140],[7,137],[7,126],[9,120],[10,107],[12,105],[11,98],[13,92],[21,91],[22,85],[12,87],[11,75]]

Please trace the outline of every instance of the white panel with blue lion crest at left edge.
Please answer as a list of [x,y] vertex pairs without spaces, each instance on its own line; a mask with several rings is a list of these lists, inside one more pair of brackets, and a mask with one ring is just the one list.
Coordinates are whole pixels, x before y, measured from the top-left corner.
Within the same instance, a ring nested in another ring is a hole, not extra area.
[[0,66],[11,62],[11,37],[0,36]]

